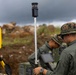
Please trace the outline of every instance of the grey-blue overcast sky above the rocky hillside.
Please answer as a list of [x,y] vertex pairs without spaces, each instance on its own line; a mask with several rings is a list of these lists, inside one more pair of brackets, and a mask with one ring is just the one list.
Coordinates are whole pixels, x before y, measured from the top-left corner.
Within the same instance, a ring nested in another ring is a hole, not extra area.
[[0,24],[33,24],[32,2],[38,2],[38,24],[76,21],[76,0],[0,0]]

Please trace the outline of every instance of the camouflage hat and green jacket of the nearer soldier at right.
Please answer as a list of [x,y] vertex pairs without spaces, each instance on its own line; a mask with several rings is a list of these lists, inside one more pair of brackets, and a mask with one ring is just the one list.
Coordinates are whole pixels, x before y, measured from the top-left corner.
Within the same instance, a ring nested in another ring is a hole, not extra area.
[[[67,34],[76,34],[76,23],[66,23],[61,27],[60,36]],[[48,70],[46,75],[76,75],[76,40],[69,43],[63,50],[56,69]]]

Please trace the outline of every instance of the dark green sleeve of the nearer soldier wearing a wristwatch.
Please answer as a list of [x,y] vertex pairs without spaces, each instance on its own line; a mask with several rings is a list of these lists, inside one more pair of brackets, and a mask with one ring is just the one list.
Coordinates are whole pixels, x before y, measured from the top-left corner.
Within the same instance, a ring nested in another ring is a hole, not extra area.
[[46,75],[68,75],[70,55],[62,52],[59,63],[54,71],[48,71]]

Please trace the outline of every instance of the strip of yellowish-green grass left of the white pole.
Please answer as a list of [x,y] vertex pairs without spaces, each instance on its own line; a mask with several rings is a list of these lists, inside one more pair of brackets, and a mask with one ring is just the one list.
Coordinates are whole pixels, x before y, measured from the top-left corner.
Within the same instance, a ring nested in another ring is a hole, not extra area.
[[14,45],[14,44],[29,44],[31,43],[33,39],[33,36],[27,36],[27,37],[24,37],[24,38],[9,38],[9,37],[5,37],[3,39],[3,46],[6,46],[6,45]]

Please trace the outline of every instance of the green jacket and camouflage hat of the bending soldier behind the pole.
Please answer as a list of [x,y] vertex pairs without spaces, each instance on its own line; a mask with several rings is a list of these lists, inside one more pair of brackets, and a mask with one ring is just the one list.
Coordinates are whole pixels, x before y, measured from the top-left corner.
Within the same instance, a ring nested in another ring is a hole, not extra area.
[[[61,44],[61,41],[59,40],[60,38],[57,35],[53,36],[51,39],[54,40],[58,45]],[[49,46],[48,41],[47,41],[43,46],[41,46],[40,48],[38,48],[38,50],[37,50],[37,53],[38,53],[37,57],[38,57],[38,59],[41,59],[40,58],[41,54],[43,54],[43,53],[44,54],[49,53],[52,50],[53,50],[53,48],[51,48]],[[28,61],[30,62],[30,64],[32,65],[33,68],[36,67],[36,65],[35,65],[35,53],[31,54],[28,57]],[[43,64],[42,60],[40,60],[40,64],[41,64],[42,67],[46,68],[46,65]]]

